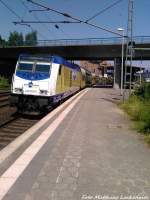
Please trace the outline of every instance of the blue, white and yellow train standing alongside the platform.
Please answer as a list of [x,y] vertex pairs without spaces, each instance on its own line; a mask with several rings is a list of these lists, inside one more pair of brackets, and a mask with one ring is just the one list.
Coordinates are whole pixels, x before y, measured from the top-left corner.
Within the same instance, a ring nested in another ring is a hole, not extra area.
[[10,105],[20,113],[43,113],[95,84],[96,77],[59,56],[20,55],[12,78]]

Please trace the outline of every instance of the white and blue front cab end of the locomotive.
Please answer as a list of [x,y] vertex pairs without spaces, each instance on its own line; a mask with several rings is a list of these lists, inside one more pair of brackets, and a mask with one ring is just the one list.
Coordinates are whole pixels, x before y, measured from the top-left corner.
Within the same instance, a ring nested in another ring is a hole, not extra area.
[[42,110],[50,101],[51,61],[21,56],[16,64],[11,87],[11,106],[18,111]]

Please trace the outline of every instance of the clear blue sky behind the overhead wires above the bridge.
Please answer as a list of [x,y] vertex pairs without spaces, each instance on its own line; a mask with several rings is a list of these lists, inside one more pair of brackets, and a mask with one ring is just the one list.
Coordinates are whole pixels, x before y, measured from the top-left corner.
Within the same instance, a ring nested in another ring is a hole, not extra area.
[[[27,2],[26,0],[3,0],[11,9],[13,9],[23,20],[68,20],[63,16],[53,12],[34,12],[29,13],[25,5],[29,9],[37,9],[38,7]],[[106,8],[116,0],[35,0],[51,8],[66,12],[74,17],[83,20],[88,19],[95,13]],[[134,0],[134,35],[150,35],[150,1]],[[118,27],[127,27],[128,0],[122,0],[118,5],[91,20],[99,26],[106,27],[116,31]],[[34,16],[33,16],[34,15]],[[14,25],[13,21],[20,21],[0,2],[0,35],[7,38],[10,31],[27,33],[30,28],[26,26]],[[88,37],[113,37],[115,35],[95,29],[85,24],[61,24],[60,29],[56,29],[53,24],[33,25],[33,29],[38,32],[38,39],[60,39],[60,38],[88,38]]]

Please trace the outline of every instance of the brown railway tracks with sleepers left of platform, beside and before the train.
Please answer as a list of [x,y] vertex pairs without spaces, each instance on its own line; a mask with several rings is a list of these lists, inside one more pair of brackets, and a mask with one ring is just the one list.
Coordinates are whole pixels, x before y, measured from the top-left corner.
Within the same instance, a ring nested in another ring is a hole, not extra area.
[[0,150],[37,123],[43,116],[20,115],[9,106],[9,91],[0,91]]

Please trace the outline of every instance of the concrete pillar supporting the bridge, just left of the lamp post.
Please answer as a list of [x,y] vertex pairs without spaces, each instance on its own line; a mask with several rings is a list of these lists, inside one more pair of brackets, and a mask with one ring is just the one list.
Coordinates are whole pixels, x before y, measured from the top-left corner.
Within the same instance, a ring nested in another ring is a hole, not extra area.
[[114,88],[119,89],[121,86],[121,59],[114,59]]

